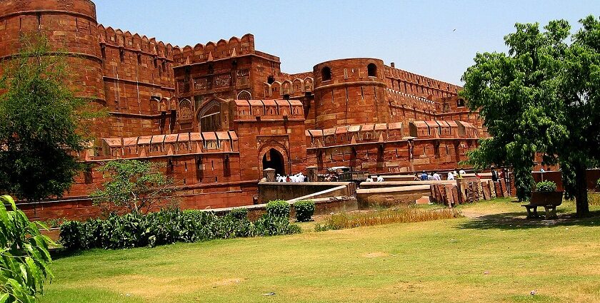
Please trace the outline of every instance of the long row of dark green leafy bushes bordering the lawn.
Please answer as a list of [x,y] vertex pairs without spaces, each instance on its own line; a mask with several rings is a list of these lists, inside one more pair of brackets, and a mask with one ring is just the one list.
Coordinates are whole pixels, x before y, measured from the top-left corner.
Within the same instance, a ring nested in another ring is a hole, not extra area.
[[[244,214],[244,215],[242,215]],[[234,237],[289,235],[300,232],[281,216],[264,215],[250,222],[246,210],[234,209],[225,216],[178,208],[109,215],[106,220],[68,221],[61,225],[61,244],[67,250],[91,248],[154,247],[174,242],[199,242]]]

